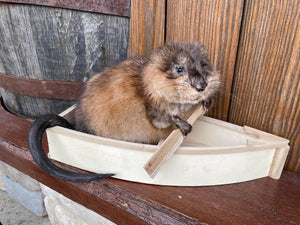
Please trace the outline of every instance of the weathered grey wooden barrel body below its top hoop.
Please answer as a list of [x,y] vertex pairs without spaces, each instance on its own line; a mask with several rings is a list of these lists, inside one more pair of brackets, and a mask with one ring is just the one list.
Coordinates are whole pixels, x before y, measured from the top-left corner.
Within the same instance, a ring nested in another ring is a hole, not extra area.
[[0,4],[0,92],[28,117],[74,104],[82,82],[127,58],[129,18]]

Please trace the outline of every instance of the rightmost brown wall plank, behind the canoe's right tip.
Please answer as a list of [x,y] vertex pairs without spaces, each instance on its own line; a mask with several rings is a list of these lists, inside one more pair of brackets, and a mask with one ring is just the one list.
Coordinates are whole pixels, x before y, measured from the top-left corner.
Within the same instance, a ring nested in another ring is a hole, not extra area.
[[229,122],[290,140],[300,172],[300,2],[246,1]]

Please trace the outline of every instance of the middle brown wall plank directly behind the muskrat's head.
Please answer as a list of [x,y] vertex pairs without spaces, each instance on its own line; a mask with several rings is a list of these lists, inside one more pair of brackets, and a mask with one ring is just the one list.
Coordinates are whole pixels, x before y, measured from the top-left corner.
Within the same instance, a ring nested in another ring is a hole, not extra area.
[[223,85],[209,115],[226,120],[230,101],[243,0],[168,0],[166,40],[200,41],[221,71]]

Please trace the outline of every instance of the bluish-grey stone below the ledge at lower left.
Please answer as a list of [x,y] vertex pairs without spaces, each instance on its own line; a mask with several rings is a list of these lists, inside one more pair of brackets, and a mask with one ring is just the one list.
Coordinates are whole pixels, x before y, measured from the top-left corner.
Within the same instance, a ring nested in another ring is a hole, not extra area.
[[37,216],[47,215],[42,191],[30,191],[6,175],[3,175],[2,179],[7,194],[10,198],[18,201]]

